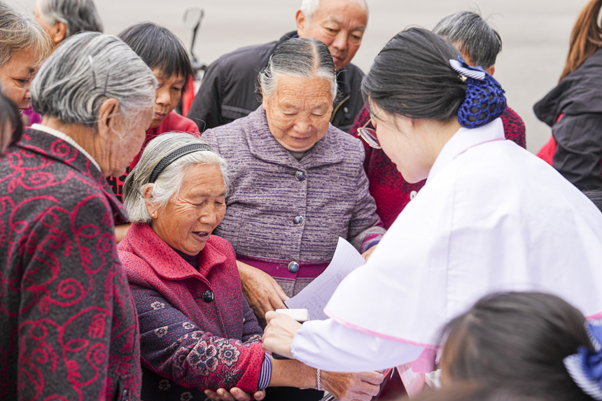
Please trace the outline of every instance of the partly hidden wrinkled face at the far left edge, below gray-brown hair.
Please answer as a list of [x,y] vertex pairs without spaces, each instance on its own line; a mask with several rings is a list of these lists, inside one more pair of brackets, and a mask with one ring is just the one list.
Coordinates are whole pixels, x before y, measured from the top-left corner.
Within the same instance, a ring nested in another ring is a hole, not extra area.
[[37,51],[23,50],[10,55],[8,63],[0,68],[3,92],[20,111],[29,108],[29,101],[31,101],[29,87],[39,69],[37,62]]

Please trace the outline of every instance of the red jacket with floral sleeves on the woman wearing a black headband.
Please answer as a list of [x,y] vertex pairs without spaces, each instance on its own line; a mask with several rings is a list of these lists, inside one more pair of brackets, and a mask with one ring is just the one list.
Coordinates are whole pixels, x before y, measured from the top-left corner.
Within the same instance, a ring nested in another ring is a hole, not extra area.
[[211,235],[197,270],[149,225],[134,224],[118,252],[139,314],[144,401],[205,400],[207,388],[258,390],[262,330],[228,241]]

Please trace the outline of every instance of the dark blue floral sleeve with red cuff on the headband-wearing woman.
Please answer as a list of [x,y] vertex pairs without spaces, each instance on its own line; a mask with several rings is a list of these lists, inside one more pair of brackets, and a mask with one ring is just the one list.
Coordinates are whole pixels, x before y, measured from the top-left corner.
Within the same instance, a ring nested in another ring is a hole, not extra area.
[[[216,337],[192,323],[155,290],[132,285],[131,290],[139,314],[144,367],[176,384],[200,390],[258,390],[265,360],[260,333],[246,333],[243,341]],[[250,317],[245,318],[245,325],[247,320]]]

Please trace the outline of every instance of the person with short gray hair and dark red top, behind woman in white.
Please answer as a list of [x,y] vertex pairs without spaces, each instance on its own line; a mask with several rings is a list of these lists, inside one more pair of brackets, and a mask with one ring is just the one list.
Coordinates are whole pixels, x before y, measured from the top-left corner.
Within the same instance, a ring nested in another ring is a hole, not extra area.
[[[448,15],[437,23],[433,32],[453,43],[469,65],[481,66],[493,76],[496,71],[496,57],[502,50],[502,39],[480,15],[470,11]],[[523,120],[510,107],[506,108],[501,119],[505,138],[524,148]],[[370,108],[367,104],[353,122],[349,134],[359,136],[358,129],[362,127],[374,128],[370,123]],[[374,149],[365,142],[364,148],[366,151],[364,168],[370,180],[370,195],[374,197],[377,213],[388,229],[426,181],[408,183],[383,150]]]

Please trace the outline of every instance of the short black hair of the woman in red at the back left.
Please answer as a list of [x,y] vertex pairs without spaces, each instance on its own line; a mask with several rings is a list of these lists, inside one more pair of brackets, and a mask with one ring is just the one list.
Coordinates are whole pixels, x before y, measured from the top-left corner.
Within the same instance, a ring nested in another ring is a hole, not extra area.
[[136,52],[148,68],[160,69],[165,76],[181,75],[186,83],[193,76],[193,66],[186,48],[169,29],[153,22],[144,22],[125,29],[119,38]]

